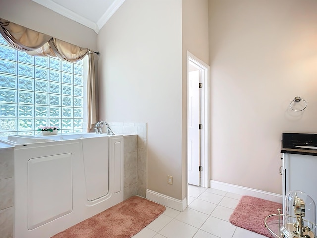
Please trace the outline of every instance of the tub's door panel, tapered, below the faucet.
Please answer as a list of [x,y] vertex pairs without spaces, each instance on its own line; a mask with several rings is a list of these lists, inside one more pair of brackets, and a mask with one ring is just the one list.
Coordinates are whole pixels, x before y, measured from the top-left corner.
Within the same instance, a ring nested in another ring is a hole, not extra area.
[[85,138],[82,143],[87,200],[94,201],[109,192],[109,137]]

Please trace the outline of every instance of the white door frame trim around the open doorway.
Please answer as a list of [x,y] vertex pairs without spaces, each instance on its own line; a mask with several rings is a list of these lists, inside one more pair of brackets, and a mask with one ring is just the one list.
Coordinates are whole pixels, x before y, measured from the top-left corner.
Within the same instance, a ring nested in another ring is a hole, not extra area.
[[[201,154],[201,166],[203,166],[203,171],[201,172],[200,186],[208,188],[209,187],[209,128],[210,128],[210,102],[209,102],[209,93],[210,93],[210,83],[209,83],[209,65],[204,63],[202,60],[197,58],[195,55],[187,51],[187,97],[188,97],[188,66],[189,62],[194,63],[197,68],[199,68],[203,90],[201,96],[201,123],[203,124],[203,129],[200,133],[200,154]],[[187,109],[188,109],[188,98],[187,98]],[[187,119],[188,119],[188,110],[187,110]],[[188,124],[187,124],[187,146],[188,146]],[[187,204],[188,204],[188,149],[187,149]]]

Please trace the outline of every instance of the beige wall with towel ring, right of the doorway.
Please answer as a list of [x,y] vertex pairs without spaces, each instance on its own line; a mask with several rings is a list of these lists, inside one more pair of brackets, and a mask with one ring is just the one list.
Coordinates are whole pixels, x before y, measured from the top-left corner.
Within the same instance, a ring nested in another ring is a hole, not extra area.
[[211,179],[281,194],[282,132],[317,133],[317,1],[210,0],[209,53]]

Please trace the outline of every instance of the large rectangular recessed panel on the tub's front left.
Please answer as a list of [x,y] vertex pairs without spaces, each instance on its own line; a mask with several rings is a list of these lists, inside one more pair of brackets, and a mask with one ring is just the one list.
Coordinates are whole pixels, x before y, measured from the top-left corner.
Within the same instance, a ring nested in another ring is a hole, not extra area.
[[28,229],[72,211],[72,154],[28,161]]

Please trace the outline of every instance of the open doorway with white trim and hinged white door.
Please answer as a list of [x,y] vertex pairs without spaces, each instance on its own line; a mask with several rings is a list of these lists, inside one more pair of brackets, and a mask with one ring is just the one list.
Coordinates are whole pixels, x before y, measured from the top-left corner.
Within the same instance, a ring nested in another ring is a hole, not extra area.
[[[209,66],[187,52],[188,184],[209,187]],[[187,193],[188,194],[188,193]]]

